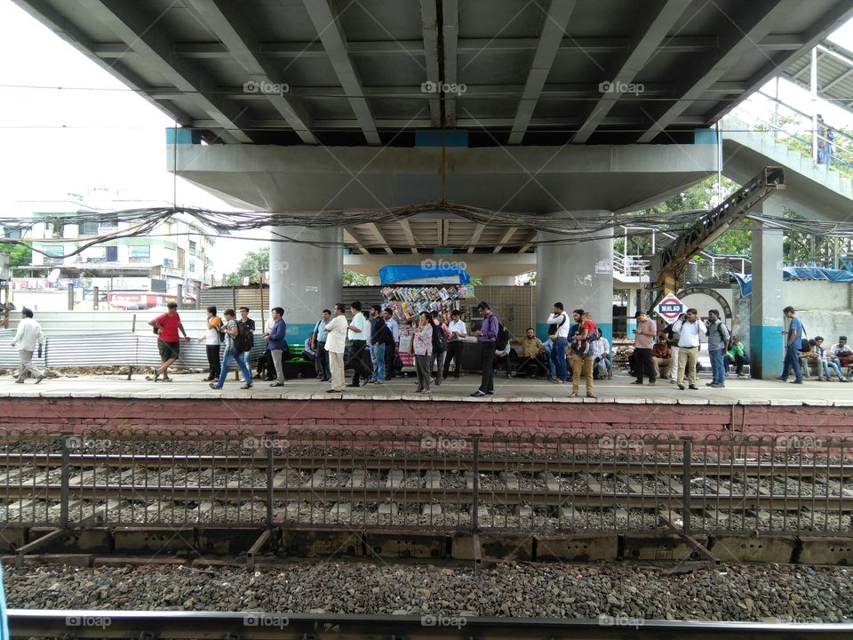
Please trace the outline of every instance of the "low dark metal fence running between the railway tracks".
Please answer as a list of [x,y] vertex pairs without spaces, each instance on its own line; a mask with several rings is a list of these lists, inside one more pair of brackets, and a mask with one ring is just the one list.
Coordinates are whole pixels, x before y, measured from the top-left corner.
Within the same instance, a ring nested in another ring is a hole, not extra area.
[[853,438],[0,432],[0,522],[850,532]]

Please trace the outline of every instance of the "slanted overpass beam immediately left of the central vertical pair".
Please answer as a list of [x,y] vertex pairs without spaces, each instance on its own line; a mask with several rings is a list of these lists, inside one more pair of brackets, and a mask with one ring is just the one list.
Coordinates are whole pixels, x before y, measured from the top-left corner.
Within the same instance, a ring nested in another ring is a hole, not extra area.
[[335,8],[330,0],[303,0],[308,16],[314,23],[317,36],[323,43],[323,48],[329,55],[329,61],[335,74],[338,76],[341,87],[347,95],[350,107],[353,108],[355,118],[358,120],[364,132],[364,138],[368,144],[379,145],[379,133],[376,131],[376,123],[373,121],[371,107],[364,99],[362,82],[358,72],[353,66],[353,61],[347,52],[347,36],[340,26],[335,14]]

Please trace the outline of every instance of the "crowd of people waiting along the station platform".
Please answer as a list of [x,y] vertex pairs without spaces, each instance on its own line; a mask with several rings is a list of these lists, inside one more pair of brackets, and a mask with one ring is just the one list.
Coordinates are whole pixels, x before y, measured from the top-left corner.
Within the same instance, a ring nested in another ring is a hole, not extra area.
[[[532,327],[522,338],[513,338],[487,302],[481,302],[477,311],[482,322],[473,336],[480,347],[482,377],[471,396],[495,393],[496,369],[504,370],[506,377],[512,378],[514,358],[510,354],[513,343],[520,345],[522,352],[521,361],[515,367],[516,373],[522,372],[530,378],[541,375],[555,384],[567,384],[571,379],[571,396],[574,397],[580,392],[582,372],[585,374],[587,397],[595,397],[596,378],[607,379],[612,375],[610,343],[595,324],[593,316],[584,309],[575,309],[570,316],[562,302],[555,302],[553,313],[546,318],[548,337],[544,342],[538,339]],[[242,389],[252,388],[254,380],[263,377],[265,372],[272,387],[284,386],[283,367],[290,358],[284,310],[281,307],[271,309],[272,320],[261,334],[266,348],[259,357],[258,373],[254,379],[249,356],[255,343],[256,324],[249,313],[247,307],[236,312],[229,308],[220,318],[216,307],[207,308],[206,331],[198,341],[206,346],[209,372],[203,380],[209,382],[211,388],[224,387],[232,361],[243,376]],[[847,336],[840,336],[832,347],[826,347],[822,336],[807,338],[792,307],[786,307],[784,314],[788,327],[783,331],[785,359],[778,379],[787,381],[793,373],[793,383],[802,384],[803,380],[811,379],[809,369],[814,367],[817,380],[849,382],[845,370],[849,372],[849,367],[853,366],[853,348],[849,346]],[[695,308],[687,309],[666,326],[643,312],[638,312],[635,320],[634,351],[629,358],[629,374],[635,377],[634,384],[642,385],[648,380],[649,385],[655,385],[657,380],[668,379],[681,390],[698,389],[701,335],[706,336],[711,360],[712,379],[706,383],[707,387],[725,388],[732,366],[737,378],[745,378],[744,367],[750,364],[749,356],[738,336],[729,332],[716,309],[708,312],[704,323],[699,320]],[[157,335],[161,364],[147,380],[171,381],[169,368],[180,355],[180,336],[189,340],[177,303],[170,302],[167,310],[148,324]],[[349,306],[347,318],[345,305],[337,304],[333,309],[323,309],[322,317],[305,340],[302,355],[314,361],[317,379],[331,384],[329,393],[340,392],[345,386],[358,388],[395,378],[403,368],[401,343],[413,356],[418,393],[429,394],[433,386],[441,385],[444,380],[459,380],[463,344],[468,337],[461,312],[424,311],[410,324],[406,339],[401,340],[403,332],[392,308],[372,305],[363,310],[362,304],[355,301]],[[37,357],[42,356],[43,346],[42,328],[34,319],[33,311],[24,308],[12,340],[12,347],[18,349],[20,357],[16,382],[22,384],[28,376],[35,378],[36,384],[44,380],[44,372],[33,364],[36,354]],[[345,380],[346,367],[353,369],[353,377],[348,384]]]

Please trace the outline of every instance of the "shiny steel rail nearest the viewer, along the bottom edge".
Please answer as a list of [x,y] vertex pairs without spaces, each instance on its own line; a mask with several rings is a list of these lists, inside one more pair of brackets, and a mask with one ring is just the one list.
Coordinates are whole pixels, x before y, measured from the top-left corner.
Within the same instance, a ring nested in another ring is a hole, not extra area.
[[[196,640],[281,637],[312,640],[471,638],[517,640],[849,640],[845,624],[785,624],[696,620],[466,618],[461,616],[335,615],[252,612],[8,610],[12,636]],[[429,624],[435,622],[435,624]]]

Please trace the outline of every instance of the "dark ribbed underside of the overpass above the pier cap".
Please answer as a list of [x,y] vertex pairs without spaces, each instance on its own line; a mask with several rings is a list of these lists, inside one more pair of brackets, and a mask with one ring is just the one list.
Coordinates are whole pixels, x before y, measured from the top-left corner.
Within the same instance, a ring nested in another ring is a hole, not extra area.
[[851,0],[13,2],[208,140],[403,147],[436,127],[471,146],[690,141],[853,14]]

